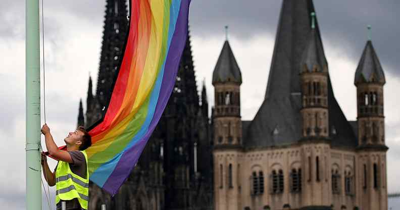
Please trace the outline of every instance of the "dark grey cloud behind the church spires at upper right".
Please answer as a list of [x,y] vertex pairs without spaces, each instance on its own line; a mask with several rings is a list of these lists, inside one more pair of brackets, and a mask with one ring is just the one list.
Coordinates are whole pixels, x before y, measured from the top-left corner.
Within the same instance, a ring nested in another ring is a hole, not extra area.
[[[229,34],[241,39],[256,34],[275,36],[282,1],[192,1],[191,34],[223,36],[224,25]],[[397,69],[400,27],[398,1],[338,0],[314,1],[324,41],[337,43],[346,56],[358,62],[367,40],[366,26],[372,25],[372,40],[385,71],[400,77]],[[273,46],[264,46],[273,47]],[[354,70],[355,71],[355,70]]]

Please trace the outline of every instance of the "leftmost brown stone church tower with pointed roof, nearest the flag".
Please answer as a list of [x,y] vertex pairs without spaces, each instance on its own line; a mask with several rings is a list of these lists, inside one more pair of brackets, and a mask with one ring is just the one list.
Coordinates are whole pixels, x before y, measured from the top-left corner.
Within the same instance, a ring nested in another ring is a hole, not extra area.
[[240,119],[241,72],[228,40],[225,41],[213,73],[214,189],[215,209],[238,209],[239,153],[242,147]]

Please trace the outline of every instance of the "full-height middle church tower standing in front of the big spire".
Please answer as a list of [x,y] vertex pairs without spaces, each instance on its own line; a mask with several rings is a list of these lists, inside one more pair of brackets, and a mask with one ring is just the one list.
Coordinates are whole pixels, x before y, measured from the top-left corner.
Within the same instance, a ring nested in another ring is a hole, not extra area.
[[328,112],[328,63],[324,55],[321,38],[315,27],[315,12],[311,13],[311,31],[300,62],[300,77],[302,89],[302,119],[303,119],[303,156],[305,191],[303,204],[305,206],[329,206],[330,197],[324,192],[329,191],[326,163],[327,156],[319,148],[329,148],[329,112]]

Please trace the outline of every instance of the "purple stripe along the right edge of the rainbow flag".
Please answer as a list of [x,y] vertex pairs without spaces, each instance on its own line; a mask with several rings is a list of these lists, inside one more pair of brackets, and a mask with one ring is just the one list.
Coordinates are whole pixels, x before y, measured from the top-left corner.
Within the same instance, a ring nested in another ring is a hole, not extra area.
[[178,65],[182,51],[186,43],[189,4],[190,0],[182,0],[181,2],[178,19],[176,21],[175,32],[172,37],[169,53],[165,63],[163,82],[161,85],[160,96],[157,102],[153,121],[149,125],[148,130],[143,138],[124,152],[114,171],[103,186],[103,189],[111,193],[112,196],[118,192],[118,189],[128,178],[134,167],[132,163],[137,163],[144,146],[146,145],[149,137],[152,135],[161,118],[161,115],[164,112],[165,107],[167,106],[168,99],[175,84],[175,78],[178,72]]

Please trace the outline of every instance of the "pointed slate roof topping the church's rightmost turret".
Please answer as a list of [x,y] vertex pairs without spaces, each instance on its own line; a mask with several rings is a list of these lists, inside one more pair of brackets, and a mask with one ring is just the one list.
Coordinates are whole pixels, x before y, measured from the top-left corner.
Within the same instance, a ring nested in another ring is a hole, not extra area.
[[360,82],[385,83],[385,75],[371,40],[367,41],[357,67],[354,83],[357,84]]

